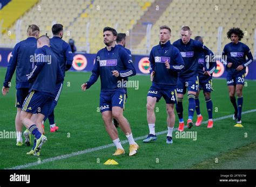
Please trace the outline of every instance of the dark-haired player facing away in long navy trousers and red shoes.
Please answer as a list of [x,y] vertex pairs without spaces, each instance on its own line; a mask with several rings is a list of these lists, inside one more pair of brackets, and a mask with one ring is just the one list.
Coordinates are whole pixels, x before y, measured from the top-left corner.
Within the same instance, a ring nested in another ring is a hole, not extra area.
[[[52,30],[53,37],[50,39],[50,47],[53,53],[55,53],[59,62],[60,69],[62,69],[62,74],[65,77],[65,71],[68,71],[72,66],[73,54],[71,52],[70,45],[64,40],[62,40],[63,25],[55,24],[52,26],[51,30]],[[48,116],[45,116],[43,120],[43,123],[44,123],[47,117],[49,118],[50,132],[56,132],[59,128],[58,126],[56,126],[56,123],[55,123],[54,109],[58,103],[60,93],[62,92],[62,87],[63,87],[63,82],[60,82],[58,85],[56,85],[55,99],[52,102],[51,109],[49,111]]]

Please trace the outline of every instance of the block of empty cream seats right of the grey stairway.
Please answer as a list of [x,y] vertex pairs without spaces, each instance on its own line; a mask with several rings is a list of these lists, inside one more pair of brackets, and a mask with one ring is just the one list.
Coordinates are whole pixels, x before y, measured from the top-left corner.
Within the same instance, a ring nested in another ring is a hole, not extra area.
[[[215,6],[218,6],[218,10],[215,10]],[[190,16],[183,16],[184,14]],[[253,49],[253,35],[254,29],[256,28],[255,20],[255,1],[213,0],[209,2],[205,0],[173,0],[156,24],[152,26],[151,47],[159,42],[159,26],[165,24],[171,27],[171,41],[173,42],[180,38],[179,32],[181,26],[187,24],[191,27],[192,38],[196,35],[204,34],[204,41],[207,41],[207,47],[213,52],[217,52],[219,26],[223,26],[221,47],[224,47],[225,44],[230,42],[226,37],[228,29],[231,27],[240,27],[242,30],[248,32],[248,41],[245,41],[247,40],[245,39],[244,42]],[[146,37],[144,37],[135,49],[136,51],[140,51],[145,46]]]

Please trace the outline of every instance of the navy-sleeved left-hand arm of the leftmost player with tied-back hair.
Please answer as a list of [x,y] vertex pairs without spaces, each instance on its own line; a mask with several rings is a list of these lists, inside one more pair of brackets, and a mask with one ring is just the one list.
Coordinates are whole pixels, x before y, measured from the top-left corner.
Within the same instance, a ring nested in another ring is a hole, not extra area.
[[11,52],[11,58],[7,66],[5,78],[4,78],[4,87],[9,88],[9,82],[11,82],[11,78],[14,75],[16,66],[17,66],[17,50],[19,45],[14,47],[14,50]]

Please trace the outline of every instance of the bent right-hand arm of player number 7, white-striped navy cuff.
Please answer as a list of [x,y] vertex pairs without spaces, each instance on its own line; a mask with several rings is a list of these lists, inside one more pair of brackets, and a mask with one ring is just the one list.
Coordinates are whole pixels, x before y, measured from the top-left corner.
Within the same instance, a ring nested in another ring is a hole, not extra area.
[[124,63],[126,70],[119,71],[120,77],[131,77],[136,75],[136,69],[133,66],[132,58],[129,54],[124,51],[124,49],[120,49],[120,57]]

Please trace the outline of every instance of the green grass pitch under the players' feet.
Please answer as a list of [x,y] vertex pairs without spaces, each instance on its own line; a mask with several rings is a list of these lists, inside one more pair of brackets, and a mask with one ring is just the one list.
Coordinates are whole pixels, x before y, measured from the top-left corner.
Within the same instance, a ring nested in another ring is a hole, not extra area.
[[[0,82],[4,80],[6,68],[0,68]],[[105,131],[98,112],[100,80],[89,90],[81,91],[80,85],[87,81],[91,73],[66,73],[62,94],[55,110],[59,131],[50,133],[48,121],[45,123],[48,141],[42,148],[41,156],[26,155],[30,147],[16,146],[16,139],[0,139],[0,169],[23,166],[24,169],[256,169],[256,124],[255,111],[242,115],[244,128],[234,127],[231,117],[214,121],[212,129],[207,124],[193,127],[197,139],[178,139],[173,132],[173,144],[167,145],[166,133],[158,135],[157,141],[143,143],[141,138],[149,133],[146,120],[146,95],[151,82],[149,76],[134,76],[130,80],[139,81],[139,89],[128,89],[128,99],[124,116],[129,120],[133,137],[140,146],[136,156],[129,157],[129,144],[123,143],[125,155],[114,157],[115,148]],[[242,110],[256,109],[256,82],[248,81],[244,87]],[[213,118],[233,114],[228,98],[225,80],[214,79],[212,92]],[[7,96],[0,96],[0,132],[15,131],[15,76]],[[187,117],[187,99],[184,98],[184,120]],[[166,131],[166,109],[162,98],[156,105],[156,132]],[[200,107],[204,121],[207,120],[206,104],[200,94]],[[194,121],[196,114],[194,114]],[[176,115],[176,124],[178,120]],[[24,128],[25,130],[25,128]],[[118,128],[120,140],[126,140]],[[24,141],[24,138],[23,138]],[[103,146],[103,147],[100,147]],[[104,147],[106,146],[106,147]],[[95,148],[95,149],[91,149]],[[83,151],[84,152],[78,152]],[[78,153],[76,153],[78,152]],[[82,154],[83,153],[83,154]],[[60,157],[62,155],[68,155]],[[103,163],[114,159],[119,164],[107,166]],[[31,164],[33,163],[33,164]]]

